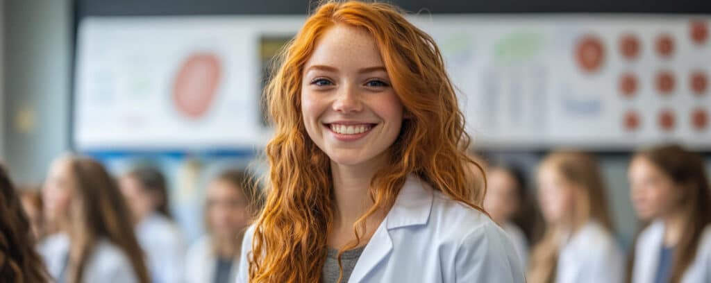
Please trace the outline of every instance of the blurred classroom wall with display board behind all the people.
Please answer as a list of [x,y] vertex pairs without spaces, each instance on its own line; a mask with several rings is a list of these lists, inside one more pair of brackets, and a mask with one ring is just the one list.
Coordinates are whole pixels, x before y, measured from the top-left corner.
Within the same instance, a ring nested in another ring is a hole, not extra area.
[[[710,1],[392,3],[442,49],[472,150],[519,164],[530,185],[548,151],[591,152],[623,246],[638,227],[632,152],[676,142],[711,171]],[[265,74],[314,6],[1,0],[0,160],[34,189],[68,151],[117,176],[155,166],[193,242],[208,180],[227,168],[266,170]]]

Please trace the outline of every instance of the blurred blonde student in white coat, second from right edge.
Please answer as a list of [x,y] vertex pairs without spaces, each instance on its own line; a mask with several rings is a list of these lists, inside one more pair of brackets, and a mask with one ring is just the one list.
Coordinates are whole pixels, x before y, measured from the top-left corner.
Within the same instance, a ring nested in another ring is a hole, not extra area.
[[605,190],[593,156],[556,151],[545,157],[538,169],[538,201],[546,227],[530,255],[528,282],[624,280]]

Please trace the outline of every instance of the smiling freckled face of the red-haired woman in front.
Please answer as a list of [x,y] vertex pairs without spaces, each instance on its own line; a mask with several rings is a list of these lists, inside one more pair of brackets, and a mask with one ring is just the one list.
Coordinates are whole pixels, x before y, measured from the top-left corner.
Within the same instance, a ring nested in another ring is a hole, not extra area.
[[379,160],[402,125],[375,38],[346,25],[326,31],[304,65],[301,105],[309,137],[341,165]]

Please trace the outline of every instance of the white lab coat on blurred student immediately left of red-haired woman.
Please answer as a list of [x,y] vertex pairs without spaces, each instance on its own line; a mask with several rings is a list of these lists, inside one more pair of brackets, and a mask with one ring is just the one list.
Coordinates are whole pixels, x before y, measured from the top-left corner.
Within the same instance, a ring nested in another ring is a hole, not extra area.
[[[188,250],[186,257],[186,282],[203,283],[215,280],[215,268],[217,268],[218,258],[213,251],[212,242],[209,236],[201,237]],[[239,260],[232,263],[230,269],[230,279],[228,282],[235,282],[237,279],[237,269]]]

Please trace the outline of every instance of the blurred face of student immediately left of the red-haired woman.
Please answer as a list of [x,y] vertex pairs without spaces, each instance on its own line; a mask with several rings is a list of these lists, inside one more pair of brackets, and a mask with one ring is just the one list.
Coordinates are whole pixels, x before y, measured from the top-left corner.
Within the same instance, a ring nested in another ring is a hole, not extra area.
[[250,225],[247,198],[227,181],[213,181],[207,192],[207,220],[213,235],[235,237]]

